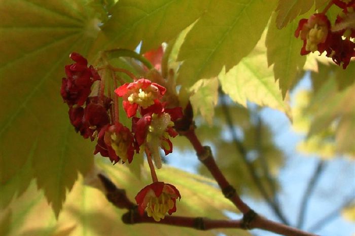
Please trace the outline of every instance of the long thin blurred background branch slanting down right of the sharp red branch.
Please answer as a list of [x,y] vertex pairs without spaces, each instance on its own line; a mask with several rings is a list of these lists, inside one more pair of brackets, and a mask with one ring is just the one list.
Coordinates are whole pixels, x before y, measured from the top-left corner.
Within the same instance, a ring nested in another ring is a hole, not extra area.
[[224,114],[225,114],[225,117],[226,117],[227,126],[228,126],[228,128],[229,128],[229,130],[231,132],[231,135],[232,135],[233,142],[234,142],[237,150],[241,154],[242,160],[243,160],[244,164],[246,165],[247,170],[249,171],[250,175],[252,176],[252,179],[253,179],[254,183],[258,187],[260,193],[262,194],[262,196],[265,199],[265,201],[269,204],[269,206],[271,207],[273,212],[278,216],[278,218],[283,223],[289,225],[288,220],[286,219],[285,216],[283,216],[279,206],[277,204],[275,204],[269,198],[265,187],[263,186],[263,184],[260,181],[260,178],[256,174],[256,170],[255,170],[254,166],[247,160],[247,152],[246,152],[245,147],[243,146],[242,142],[238,139],[237,133],[236,133],[234,125],[233,125],[232,117],[231,117],[231,114],[229,112],[229,109],[228,109],[228,106],[227,106],[227,102],[226,102],[226,99],[225,99],[223,94],[222,94],[222,96],[220,96],[220,100],[221,100],[222,109],[224,110]]

